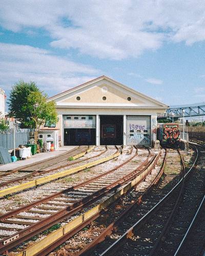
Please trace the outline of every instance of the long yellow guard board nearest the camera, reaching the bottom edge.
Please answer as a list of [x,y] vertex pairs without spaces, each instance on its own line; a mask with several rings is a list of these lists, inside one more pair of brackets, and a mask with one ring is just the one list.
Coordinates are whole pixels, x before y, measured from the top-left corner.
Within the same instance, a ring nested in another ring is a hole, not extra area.
[[84,214],[79,215],[74,220],[66,224],[65,226],[57,229],[56,231],[53,231],[51,234],[46,236],[44,239],[40,240],[36,244],[28,247],[24,251],[16,254],[16,256],[33,256],[37,254],[39,251],[43,250],[44,248],[50,246],[52,243],[54,243],[56,240],[63,237],[65,234],[70,232],[72,229],[79,226],[81,223],[87,221],[89,218],[93,217],[96,213],[102,211],[103,209],[107,208],[109,205],[111,205],[116,199],[118,199],[120,196],[124,195],[129,189],[133,188],[137,182],[144,177],[150,169],[154,166],[155,161],[157,160],[158,155],[155,157],[155,159],[152,161],[152,163],[148,166],[146,170],[144,170],[142,173],[140,173],[138,176],[136,176],[132,181],[129,182],[124,188],[117,191],[114,195],[110,196],[108,199],[106,199],[101,204],[93,207],[91,210],[85,212]]

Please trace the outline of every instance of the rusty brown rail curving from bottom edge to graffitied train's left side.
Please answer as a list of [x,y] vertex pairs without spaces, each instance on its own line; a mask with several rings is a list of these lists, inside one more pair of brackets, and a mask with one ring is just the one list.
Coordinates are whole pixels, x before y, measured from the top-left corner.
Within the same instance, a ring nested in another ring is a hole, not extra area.
[[[81,250],[79,253],[76,254],[76,256],[81,256],[81,255],[88,255],[91,253],[90,250],[94,250],[94,247],[99,244],[100,242],[103,242],[106,238],[107,235],[110,235],[112,233],[112,231],[118,226],[118,224],[120,222],[122,222],[122,220],[124,220],[124,218],[126,217],[127,213],[129,213],[130,211],[132,211],[132,209],[134,208],[134,206],[137,204],[139,205],[141,203],[141,199],[142,197],[144,197],[145,194],[147,194],[150,189],[157,184],[157,182],[159,181],[160,177],[162,176],[164,170],[165,170],[165,164],[166,164],[166,160],[167,160],[167,150],[165,152],[165,156],[163,158],[163,164],[160,168],[159,173],[157,174],[157,176],[154,178],[154,180],[151,182],[150,186],[146,189],[146,191],[144,193],[142,193],[136,200],[134,200],[134,202],[132,203],[132,205],[130,205],[124,212],[122,212],[114,222],[112,222],[106,229],[104,229],[98,236],[96,236],[96,238],[89,243],[83,250]],[[136,185],[137,186],[137,185]],[[135,187],[136,187],[135,186]]]

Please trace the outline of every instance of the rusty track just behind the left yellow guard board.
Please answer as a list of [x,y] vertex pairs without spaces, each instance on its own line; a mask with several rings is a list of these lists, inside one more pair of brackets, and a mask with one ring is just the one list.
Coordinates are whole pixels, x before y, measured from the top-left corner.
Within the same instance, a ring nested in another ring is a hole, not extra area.
[[[103,148],[101,148],[103,149]],[[34,166],[31,167],[27,167],[27,168],[21,168],[19,170],[15,170],[6,174],[2,174],[0,175],[0,186],[1,189],[4,189],[4,187],[8,187],[9,184],[12,184],[12,186],[16,186],[18,184],[20,184],[20,181],[23,180],[32,180],[33,177],[36,177],[39,175],[39,177],[45,177],[45,174],[49,175],[49,173],[55,173],[56,171],[59,171],[59,169],[65,168],[65,167],[76,167],[79,166],[79,164],[82,164],[84,161],[90,161],[93,158],[99,157],[102,154],[104,154],[107,151],[107,147],[105,150],[99,150],[98,148],[95,151],[95,155],[91,156],[91,157],[86,157],[81,160],[69,160],[68,156],[71,157],[71,159],[73,158],[73,156],[71,156],[70,154],[66,154],[64,156],[61,157],[57,157],[54,159],[55,163],[40,163],[40,166],[38,166],[38,168],[36,167],[36,164],[34,164]],[[79,149],[76,151],[74,151],[75,154],[81,154],[81,153],[86,153],[88,151],[88,148],[84,147],[83,150]],[[98,153],[98,151],[100,151],[100,153]],[[72,154],[73,155],[73,154]],[[57,164],[56,164],[57,161]],[[65,163],[66,162],[66,163]],[[51,166],[57,166],[55,168],[50,168]],[[36,170],[36,169],[37,170]],[[25,175],[25,172],[30,172],[29,174]]]

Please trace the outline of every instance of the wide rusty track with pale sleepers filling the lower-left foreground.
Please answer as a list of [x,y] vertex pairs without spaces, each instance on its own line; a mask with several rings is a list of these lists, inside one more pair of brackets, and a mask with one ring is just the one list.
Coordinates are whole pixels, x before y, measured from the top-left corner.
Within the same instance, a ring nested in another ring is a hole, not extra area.
[[136,149],[133,149],[130,158],[120,166],[89,181],[0,216],[0,229],[3,227],[2,233],[0,233],[0,253],[22,243],[36,233],[81,210],[97,198],[108,194],[137,175],[154,157],[150,156],[150,153],[147,156],[142,156],[141,161],[144,161],[139,165],[140,157],[137,156]]

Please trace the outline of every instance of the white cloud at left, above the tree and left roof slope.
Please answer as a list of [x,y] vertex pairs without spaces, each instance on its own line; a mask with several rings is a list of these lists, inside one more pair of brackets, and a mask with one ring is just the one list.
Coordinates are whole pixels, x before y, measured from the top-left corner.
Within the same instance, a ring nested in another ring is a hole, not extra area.
[[26,45],[0,43],[0,84],[5,89],[19,79],[35,81],[43,90],[65,90],[93,79],[98,70],[52,52]]

